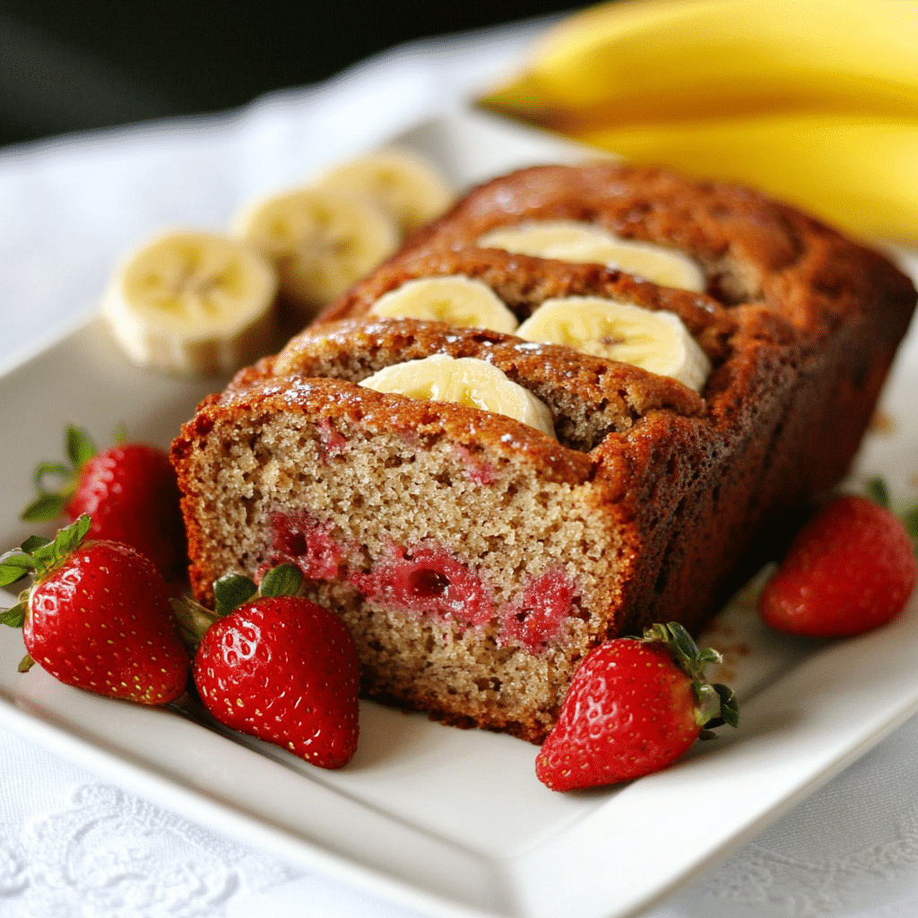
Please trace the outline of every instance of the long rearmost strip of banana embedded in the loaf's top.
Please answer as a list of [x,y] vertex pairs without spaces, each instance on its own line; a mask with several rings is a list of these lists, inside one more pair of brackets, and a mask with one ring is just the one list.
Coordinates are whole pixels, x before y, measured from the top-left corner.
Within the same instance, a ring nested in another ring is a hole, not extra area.
[[606,264],[655,284],[694,290],[696,293],[706,286],[700,266],[683,252],[652,242],[620,239],[605,229],[576,220],[538,220],[493,229],[485,233],[476,245],[537,258],[555,258],[562,262]]

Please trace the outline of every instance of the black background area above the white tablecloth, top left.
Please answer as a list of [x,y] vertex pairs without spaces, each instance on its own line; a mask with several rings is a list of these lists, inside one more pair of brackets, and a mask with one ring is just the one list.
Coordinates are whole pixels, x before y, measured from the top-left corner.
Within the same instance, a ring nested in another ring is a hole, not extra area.
[[577,6],[0,0],[0,143],[240,106],[402,41]]

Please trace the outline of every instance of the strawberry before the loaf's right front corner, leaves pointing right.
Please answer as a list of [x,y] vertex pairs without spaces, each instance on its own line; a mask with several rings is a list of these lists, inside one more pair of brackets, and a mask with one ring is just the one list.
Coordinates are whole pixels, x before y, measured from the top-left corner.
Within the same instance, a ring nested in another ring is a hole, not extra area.
[[591,651],[574,674],[535,773],[553,790],[599,787],[659,771],[712,727],[735,727],[733,691],[704,681],[718,662],[676,622]]

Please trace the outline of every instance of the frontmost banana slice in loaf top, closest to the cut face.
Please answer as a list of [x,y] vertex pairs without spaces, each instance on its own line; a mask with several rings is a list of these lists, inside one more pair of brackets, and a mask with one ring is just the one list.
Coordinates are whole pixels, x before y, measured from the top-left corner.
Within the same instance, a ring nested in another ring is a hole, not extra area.
[[397,392],[427,401],[450,401],[521,420],[554,437],[552,412],[529,389],[514,383],[493,364],[475,357],[437,353],[393,364],[360,384],[376,392]]

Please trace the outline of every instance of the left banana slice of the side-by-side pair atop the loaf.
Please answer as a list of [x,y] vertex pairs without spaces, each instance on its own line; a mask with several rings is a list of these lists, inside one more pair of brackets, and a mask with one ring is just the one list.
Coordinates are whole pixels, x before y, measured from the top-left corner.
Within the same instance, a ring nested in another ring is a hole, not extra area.
[[428,319],[507,334],[512,334],[520,324],[487,284],[464,274],[408,281],[379,297],[370,308],[370,315],[383,319]]

